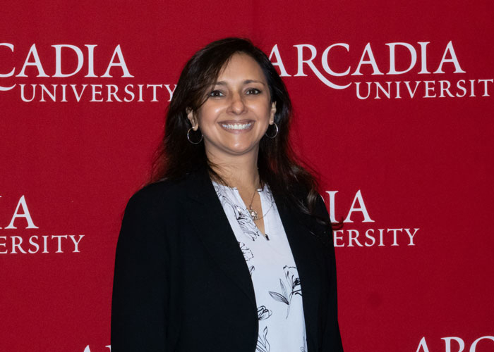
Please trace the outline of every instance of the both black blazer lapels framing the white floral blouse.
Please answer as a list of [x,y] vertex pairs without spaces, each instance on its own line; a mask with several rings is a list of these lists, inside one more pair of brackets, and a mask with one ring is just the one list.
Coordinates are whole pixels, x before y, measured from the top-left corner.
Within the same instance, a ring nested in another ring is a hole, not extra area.
[[[219,268],[242,289],[257,311],[248,265],[207,170],[189,174],[186,187],[189,199],[186,208],[190,211],[189,219],[205,248],[216,260]],[[304,219],[305,215],[289,208],[280,196],[275,196],[275,202],[299,272],[308,345],[315,346],[320,283],[318,276],[314,274],[318,263],[314,255],[313,241],[308,238],[312,234],[309,233],[308,227],[303,225],[307,223],[307,219]]]

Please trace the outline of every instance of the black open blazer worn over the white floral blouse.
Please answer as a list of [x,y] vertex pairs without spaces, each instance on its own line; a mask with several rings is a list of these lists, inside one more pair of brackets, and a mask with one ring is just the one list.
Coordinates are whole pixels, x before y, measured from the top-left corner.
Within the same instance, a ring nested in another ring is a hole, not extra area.
[[[308,352],[343,351],[335,251],[311,232],[332,234],[275,201],[299,272]],[[318,211],[329,219],[322,199]],[[257,339],[251,276],[207,172],[134,194],[116,245],[112,352],[255,352]]]

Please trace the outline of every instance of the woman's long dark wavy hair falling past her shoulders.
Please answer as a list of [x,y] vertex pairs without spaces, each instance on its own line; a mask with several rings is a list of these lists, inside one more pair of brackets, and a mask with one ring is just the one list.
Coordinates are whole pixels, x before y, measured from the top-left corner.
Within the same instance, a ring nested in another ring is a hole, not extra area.
[[[217,40],[200,49],[186,63],[168,107],[164,139],[155,155],[150,183],[179,180],[199,168],[207,168],[213,179],[222,182],[212,168],[214,165],[207,159],[204,143],[191,144],[186,138],[191,128],[187,111],[198,111],[207,100],[207,93],[215,84],[220,70],[237,53],[251,56],[260,65],[270,89],[271,103],[276,102],[275,122],[279,132],[274,139],[264,136],[260,140],[258,169],[261,182],[269,184],[272,193],[286,199],[289,206],[330,225],[315,212],[319,194],[314,170],[305,164],[302,166],[289,144],[292,109],[287,88],[270,59],[248,39],[229,37]],[[268,131],[268,134],[274,132]]]

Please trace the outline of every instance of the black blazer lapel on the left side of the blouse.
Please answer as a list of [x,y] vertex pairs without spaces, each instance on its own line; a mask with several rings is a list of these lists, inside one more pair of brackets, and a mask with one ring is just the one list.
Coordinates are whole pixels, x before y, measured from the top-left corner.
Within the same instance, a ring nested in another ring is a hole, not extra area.
[[201,241],[219,268],[242,289],[257,310],[246,260],[207,170],[191,173],[186,180],[186,187],[189,199],[183,202],[183,206]]

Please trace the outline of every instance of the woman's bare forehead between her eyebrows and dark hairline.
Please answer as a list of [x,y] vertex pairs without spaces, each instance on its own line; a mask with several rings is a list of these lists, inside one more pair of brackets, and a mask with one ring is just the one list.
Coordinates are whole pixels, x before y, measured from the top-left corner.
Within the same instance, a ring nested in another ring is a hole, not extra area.
[[266,82],[263,69],[250,55],[234,54],[219,71],[217,82],[241,82],[258,80]]

